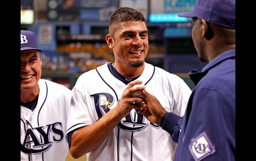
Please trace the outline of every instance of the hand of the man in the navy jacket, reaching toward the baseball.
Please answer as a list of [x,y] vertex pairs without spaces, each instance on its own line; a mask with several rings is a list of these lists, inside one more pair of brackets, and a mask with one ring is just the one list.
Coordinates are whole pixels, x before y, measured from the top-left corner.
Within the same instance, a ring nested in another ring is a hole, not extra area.
[[150,122],[160,125],[167,111],[162,107],[158,99],[146,90],[141,91],[141,94],[146,100],[146,108],[139,109],[138,112],[144,115]]

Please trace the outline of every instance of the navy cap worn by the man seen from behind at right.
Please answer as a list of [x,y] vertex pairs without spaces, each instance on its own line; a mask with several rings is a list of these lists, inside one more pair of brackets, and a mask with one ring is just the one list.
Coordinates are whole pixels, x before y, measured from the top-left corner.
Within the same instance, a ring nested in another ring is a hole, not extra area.
[[235,0],[197,0],[193,11],[180,17],[197,17],[223,27],[235,29]]

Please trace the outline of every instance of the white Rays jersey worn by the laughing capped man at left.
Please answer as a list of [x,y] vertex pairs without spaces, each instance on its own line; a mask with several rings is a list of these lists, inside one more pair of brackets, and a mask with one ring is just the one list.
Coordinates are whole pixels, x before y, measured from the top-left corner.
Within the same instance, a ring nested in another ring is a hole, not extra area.
[[[64,161],[64,139],[71,91],[63,85],[40,79],[36,108],[21,106],[21,161]],[[31,155],[32,154],[32,155]]]

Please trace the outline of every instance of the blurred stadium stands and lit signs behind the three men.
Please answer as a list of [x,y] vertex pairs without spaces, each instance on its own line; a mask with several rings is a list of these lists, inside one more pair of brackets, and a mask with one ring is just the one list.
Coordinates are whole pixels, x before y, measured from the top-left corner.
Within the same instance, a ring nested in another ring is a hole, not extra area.
[[[21,30],[36,33],[41,52],[42,78],[72,89],[84,72],[113,62],[108,48],[108,20],[118,7],[132,7],[148,23],[146,62],[181,77],[201,70],[191,38],[192,20],[177,13],[191,11],[196,0],[21,0]],[[77,160],[85,160],[85,156]],[[75,160],[69,155],[67,161]]]

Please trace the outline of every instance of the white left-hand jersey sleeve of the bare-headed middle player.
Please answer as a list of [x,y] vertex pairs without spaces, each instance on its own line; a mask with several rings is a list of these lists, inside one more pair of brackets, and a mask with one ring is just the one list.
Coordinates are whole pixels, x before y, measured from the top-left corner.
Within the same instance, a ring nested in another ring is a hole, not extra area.
[[74,129],[92,124],[89,112],[89,98],[86,93],[80,92],[76,87],[72,89],[70,111],[67,119],[66,134]]

